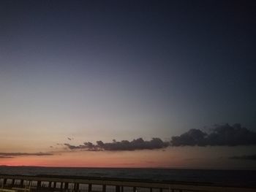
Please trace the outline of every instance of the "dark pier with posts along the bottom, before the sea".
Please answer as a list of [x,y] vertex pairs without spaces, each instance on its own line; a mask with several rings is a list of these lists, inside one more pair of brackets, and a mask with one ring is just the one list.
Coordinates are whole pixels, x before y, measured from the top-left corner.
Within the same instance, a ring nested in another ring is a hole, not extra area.
[[0,174],[0,192],[256,192],[256,188],[105,177]]

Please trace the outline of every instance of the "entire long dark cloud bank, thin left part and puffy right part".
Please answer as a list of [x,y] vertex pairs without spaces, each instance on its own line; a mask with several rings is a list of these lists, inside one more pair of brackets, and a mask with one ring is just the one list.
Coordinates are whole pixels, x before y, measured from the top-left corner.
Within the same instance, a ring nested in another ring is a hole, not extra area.
[[69,150],[90,150],[90,151],[120,151],[120,150],[155,150],[164,149],[169,146],[236,146],[236,145],[256,145],[256,133],[236,123],[215,126],[210,132],[200,129],[190,129],[180,136],[172,137],[170,141],[164,142],[162,139],[153,138],[145,141],[142,138],[133,139],[131,142],[123,140],[121,142],[102,142],[96,144],[84,142],[83,145],[64,144]]

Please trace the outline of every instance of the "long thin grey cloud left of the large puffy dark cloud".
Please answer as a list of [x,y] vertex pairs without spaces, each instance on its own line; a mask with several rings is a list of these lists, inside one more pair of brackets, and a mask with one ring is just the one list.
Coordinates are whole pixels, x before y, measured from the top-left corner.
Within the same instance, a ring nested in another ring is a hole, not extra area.
[[131,142],[123,140],[117,142],[115,139],[113,142],[97,141],[96,144],[91,142],[84,142],[83,145],[69,145],[65,143],[69,150],[89,150],[89,151],[121,151],[121,150],[155,150],[168,147],[170,142],[163,142],[162,139],[153,138],[150,141],[144,141],[142,138],[133,139]]

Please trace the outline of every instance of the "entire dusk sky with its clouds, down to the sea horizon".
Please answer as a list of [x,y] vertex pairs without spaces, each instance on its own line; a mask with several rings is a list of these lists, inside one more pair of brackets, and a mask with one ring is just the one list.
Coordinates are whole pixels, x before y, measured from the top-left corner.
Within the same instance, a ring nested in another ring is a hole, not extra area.
[[1,1],[0,164],[256,169],[253,1]]

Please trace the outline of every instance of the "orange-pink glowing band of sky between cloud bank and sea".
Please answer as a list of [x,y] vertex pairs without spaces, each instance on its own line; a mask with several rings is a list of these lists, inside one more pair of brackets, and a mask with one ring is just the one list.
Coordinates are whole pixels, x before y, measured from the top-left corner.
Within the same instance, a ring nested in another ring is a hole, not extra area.
[[[167,147],[165,150],[135,151],[67,150],[53,153],[53,155],[18,155],[13,158],[0,158],[0,165],[181,169],[246,168],[246,165],[243,166],[230,158],[219,158],[217,155],[214,158],[213,155],[217,153],[218,149],[219,147]],[[241,151],[244,147],[239,147],[239,149]],[[229,153],[223,154],[223,157],[230,156],[234,151],[230,150]]]

